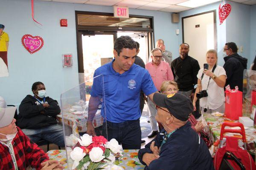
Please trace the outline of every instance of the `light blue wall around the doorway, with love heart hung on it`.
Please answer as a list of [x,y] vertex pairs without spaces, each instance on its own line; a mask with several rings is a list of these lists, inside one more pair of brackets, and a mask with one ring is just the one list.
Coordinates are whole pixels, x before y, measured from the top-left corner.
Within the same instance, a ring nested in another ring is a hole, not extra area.
[[[8,104],[20,104],[27,95],[32,94],[35,81],[44,82],[47,94],[59,101],[62,92],[77,86],[78,61],[76,47],[75,11],[111,12],[111,6],[93,6],[73,3],[35,1],[35,19],[31,17],[31,0],[1,0],[0,23],[6,26],[9,34],[9,77],[0,78],[0,96]],[[177,52],[177,24],[171,23],[171,13],[130,9],[130,14],[154,17],[155,40],[163,38],[166,49]],[[68,27],[60,27],[59,20],[66,18]],[[21,44],[25,34],[43,37],[44,46],[34,54],[29,54]],[[175,51],[176,50],[176,51]],[[62,67],[62,54],[73,54],[73,67]]]

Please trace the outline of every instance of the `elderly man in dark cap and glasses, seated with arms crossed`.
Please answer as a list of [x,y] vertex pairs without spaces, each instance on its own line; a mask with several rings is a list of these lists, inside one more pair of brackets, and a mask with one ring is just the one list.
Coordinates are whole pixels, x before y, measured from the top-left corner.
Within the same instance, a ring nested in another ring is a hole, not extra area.
[[164,128],[139,151],[144,170],[214,170],[208,147],[188,121],[193,112],[190,99],[179,93],[155,93],[153,101],[156,119]]

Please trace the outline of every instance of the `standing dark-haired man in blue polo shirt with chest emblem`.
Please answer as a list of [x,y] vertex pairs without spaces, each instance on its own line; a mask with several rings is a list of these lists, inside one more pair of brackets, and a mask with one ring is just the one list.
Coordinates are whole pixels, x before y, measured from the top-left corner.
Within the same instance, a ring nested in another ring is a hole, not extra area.
[[89,102],[87,133],[96,135],[92,124],[97,108],[95,104],[98,105],[97,101],[105,96],[102,110],[106,112],[107,122],[103,124],[102,133],[109,140],[115,138],[123,149],[140,149],[140,91],[143,90],[151,100],[157,92],[148,71],[134,64],[136,47],[136,42],[129,36],[121,36],[115,40],[115,59],[94,72],[93,77],[103,75],[104,84],[102,78],[94,79]]

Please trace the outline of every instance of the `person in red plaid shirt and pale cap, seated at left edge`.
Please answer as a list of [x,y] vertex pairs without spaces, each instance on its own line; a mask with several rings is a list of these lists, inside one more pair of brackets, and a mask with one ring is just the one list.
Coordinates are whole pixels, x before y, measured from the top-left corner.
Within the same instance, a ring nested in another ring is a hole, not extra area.
[[62,170],[59,161],[49,157],[15,125],[16,107],[0,107],[0,170]]

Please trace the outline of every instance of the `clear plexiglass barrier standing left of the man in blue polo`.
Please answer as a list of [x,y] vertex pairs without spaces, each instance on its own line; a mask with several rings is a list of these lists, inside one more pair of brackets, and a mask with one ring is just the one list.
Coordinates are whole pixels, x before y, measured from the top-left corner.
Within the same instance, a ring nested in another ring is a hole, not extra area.
[[[96,136],[104,135],[102,130],[107,129],[104,123],[106,122],[104,90],[103,75],[99,75],[61,94],[60,121],[63,124],[67,156],[67,168],[65,169],[72,170],[76,167],[76,163],[81,163],[83,159],[77,160],[79,150],[89,155],[89,151],[92,149],[90,144],[96,140],[90,136],[93,133],[93,128]],[[88,126],[92,125],[90,127],[93,128],[87,129],[87,124]],[[87,133],[90,135],[86,135]],[[108,140],[108,137],[104,136]],[[102,150],[105,150],[105,145],[99,144],[99,147],[104,147]],[[77,150],[77,153],[73,152],[72,157],[71,152],[75,151],[75,148],[80,149]],[[74,157],[74,155],[76,156]],[[79,165],[76,169],[79,169]]]

